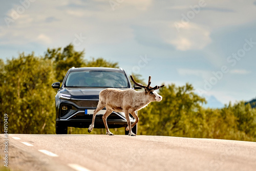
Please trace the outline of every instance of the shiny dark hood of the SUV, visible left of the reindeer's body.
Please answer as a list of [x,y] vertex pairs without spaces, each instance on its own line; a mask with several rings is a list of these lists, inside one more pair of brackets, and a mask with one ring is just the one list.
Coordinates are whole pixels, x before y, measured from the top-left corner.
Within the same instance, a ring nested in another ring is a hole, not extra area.
[[66,88],[60,90],[59,93],[66,94],[67,97],[72,99],[87,99],[98,100],[99,92],[104,89],[92,89],[92,88]]

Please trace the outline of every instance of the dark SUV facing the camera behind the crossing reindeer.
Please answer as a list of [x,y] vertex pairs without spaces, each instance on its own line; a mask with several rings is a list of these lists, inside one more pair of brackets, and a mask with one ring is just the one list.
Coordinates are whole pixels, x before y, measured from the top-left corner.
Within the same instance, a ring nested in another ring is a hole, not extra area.
[[[93,111],[97,108],[99,92],[106,88],[132,89],[129,77],[121,68],[71,68],[62,85],[52,84],[59,89],[55,96],[56,134],[67,134],[68,126],[88,128],[92,123]],[[102,116],[105,108],[96,115],[95,128],[104,128]],[[135,119],[130,115],[131,124]],[[110,128],[126,127],[122,112],[112,112],[107,119]],[[137,125],[133,127],[137,134]],[[128,134],[129,132],[125,132]]]

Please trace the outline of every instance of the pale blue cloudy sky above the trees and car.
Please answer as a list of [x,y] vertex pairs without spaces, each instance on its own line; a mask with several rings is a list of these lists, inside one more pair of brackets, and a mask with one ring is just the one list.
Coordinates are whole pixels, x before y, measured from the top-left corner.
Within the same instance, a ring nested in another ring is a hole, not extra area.
[[218,107],[256,97],[256,1],[13,0],[0,18],[5,61],[72,43],[152,85],[188,82]]

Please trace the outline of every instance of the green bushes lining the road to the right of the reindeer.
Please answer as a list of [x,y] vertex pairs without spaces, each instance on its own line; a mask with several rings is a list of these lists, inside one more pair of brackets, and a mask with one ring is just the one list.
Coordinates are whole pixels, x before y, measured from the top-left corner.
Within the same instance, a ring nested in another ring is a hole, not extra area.
[[161,102],[139,112],[140,135],[217,138],[256,141],[256,110],[243,101],[223,109],[204,109],[204,98],[191,84],[174,84],[159,90]]

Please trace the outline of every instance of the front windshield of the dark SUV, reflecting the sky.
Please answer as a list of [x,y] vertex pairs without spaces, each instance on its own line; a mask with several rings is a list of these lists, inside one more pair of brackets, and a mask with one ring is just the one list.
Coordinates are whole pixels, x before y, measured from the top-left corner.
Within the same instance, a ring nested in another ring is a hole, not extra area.
[[65,87],[78,88],[129,88],[123,72],[110,71],[71,71]]

